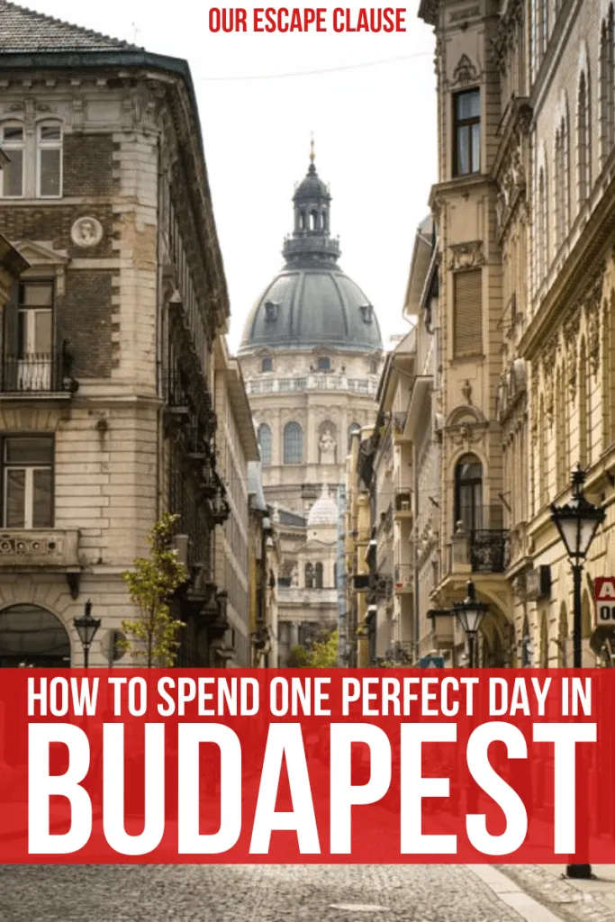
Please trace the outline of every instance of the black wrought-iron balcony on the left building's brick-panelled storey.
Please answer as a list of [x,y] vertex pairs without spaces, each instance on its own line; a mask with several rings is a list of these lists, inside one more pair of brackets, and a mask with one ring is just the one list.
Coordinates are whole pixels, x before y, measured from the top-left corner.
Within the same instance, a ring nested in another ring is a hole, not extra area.
[[5,355],[0,371],[0,393],[11,397],[66,396],[77,391],[71,376],[72,356],[65,343],[57,352]]

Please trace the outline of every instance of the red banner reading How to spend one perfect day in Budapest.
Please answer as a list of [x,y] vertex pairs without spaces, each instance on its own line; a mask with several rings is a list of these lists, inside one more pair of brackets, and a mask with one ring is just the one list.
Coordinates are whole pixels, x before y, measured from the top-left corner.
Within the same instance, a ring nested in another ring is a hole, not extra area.
[[615,863],[609,669],[0,671],[0,862]]

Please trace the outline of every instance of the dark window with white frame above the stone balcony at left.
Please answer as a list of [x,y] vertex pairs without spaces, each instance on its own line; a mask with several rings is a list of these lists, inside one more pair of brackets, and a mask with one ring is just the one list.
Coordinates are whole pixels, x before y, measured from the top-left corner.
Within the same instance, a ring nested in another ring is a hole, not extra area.
[[53,438],[6,438],[2,461],[4,527],[51,528]]

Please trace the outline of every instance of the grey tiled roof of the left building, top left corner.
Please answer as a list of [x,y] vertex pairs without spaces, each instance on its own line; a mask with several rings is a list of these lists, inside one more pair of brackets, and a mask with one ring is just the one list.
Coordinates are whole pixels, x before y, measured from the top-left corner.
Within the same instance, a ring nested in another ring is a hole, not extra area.
[[127,41],[0,0],[0,53],[140,50]]

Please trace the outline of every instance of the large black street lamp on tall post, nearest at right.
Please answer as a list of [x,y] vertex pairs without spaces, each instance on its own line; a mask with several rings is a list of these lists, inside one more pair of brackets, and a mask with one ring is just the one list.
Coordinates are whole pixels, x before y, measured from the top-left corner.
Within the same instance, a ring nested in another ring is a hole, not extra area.
[[[556,526],[568,558],[573,568],[573,650],[574,668],[582,666],[582,625],[581,625],[581,581],[587,551],[594,540],[598,526],[606,517],[606,512],[600,506],[595,506],[585,499],[583,484],[585,471],[577,465],[573,471],[573,496],[570,502],[563,506],[551,503],[551,522]],[[593,878],[591,865],[567,865],[566,876],[591,880]]]

